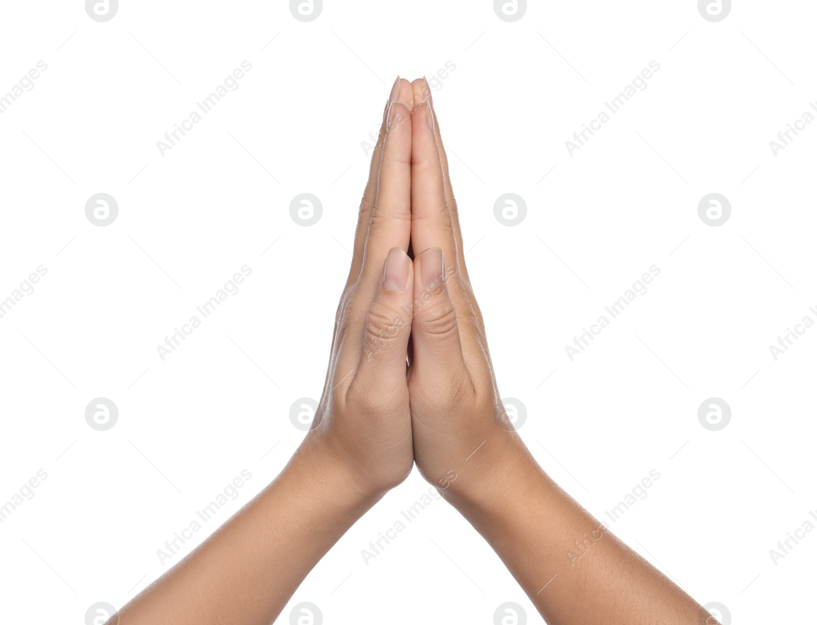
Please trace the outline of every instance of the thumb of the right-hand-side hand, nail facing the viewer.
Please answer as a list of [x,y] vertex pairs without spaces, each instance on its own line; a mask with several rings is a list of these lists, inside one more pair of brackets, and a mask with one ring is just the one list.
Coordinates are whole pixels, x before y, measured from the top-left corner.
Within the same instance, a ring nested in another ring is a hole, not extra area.
[[[444,275],[444,252],[439,247],[424,250],[414,259],[414,301],[411,335],[413,371],[422,371],[423,380],[442,384],[465,382],[473,390],[462,357],[457,311],[449,296]],[[434,389],[428,389],[433,392]]]

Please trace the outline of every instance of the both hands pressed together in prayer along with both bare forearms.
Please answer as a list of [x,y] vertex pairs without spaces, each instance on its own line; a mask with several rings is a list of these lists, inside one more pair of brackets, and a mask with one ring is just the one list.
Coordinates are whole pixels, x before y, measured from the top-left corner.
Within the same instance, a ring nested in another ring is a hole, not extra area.
[[542,471],[500,398],[431,90],[425,79],[397,79],[313,429],[275,481],[121,609],[118,623],[272,623],[415,463],[547,623],[717,623]]

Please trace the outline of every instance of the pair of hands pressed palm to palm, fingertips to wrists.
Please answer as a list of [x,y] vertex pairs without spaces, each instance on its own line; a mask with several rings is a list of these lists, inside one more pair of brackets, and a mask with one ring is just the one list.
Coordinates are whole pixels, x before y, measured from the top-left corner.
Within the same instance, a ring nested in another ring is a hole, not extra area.
[[431,90],[398,78],[306,443],[323,445],[364,497],[414,462],[446,497],[472,497],[493,470],[482,460],[521,444],[503,415]]

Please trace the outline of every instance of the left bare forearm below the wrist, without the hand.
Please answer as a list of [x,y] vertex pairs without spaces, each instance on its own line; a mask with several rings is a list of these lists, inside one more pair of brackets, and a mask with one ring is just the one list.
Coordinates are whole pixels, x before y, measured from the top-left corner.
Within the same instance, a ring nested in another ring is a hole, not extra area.
[[273,483],[120,610],[119,623],[268,625],[374,501],[353,468],[307,438]]

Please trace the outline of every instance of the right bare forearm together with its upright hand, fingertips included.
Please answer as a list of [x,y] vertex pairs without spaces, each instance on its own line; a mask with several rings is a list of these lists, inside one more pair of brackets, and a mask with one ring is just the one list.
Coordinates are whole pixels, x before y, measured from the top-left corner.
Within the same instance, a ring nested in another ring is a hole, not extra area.
[[[424,80],[413,87],[417,102],[430,94]],[[509,427],[430,104],[414,110],[412,131],[412,242],[424,250],[414,263],[420,304],[408,380],[417,467],[493,546],[547,623],[716,623],[556,486]],[[436,281],[419,280],[434,273]]]

